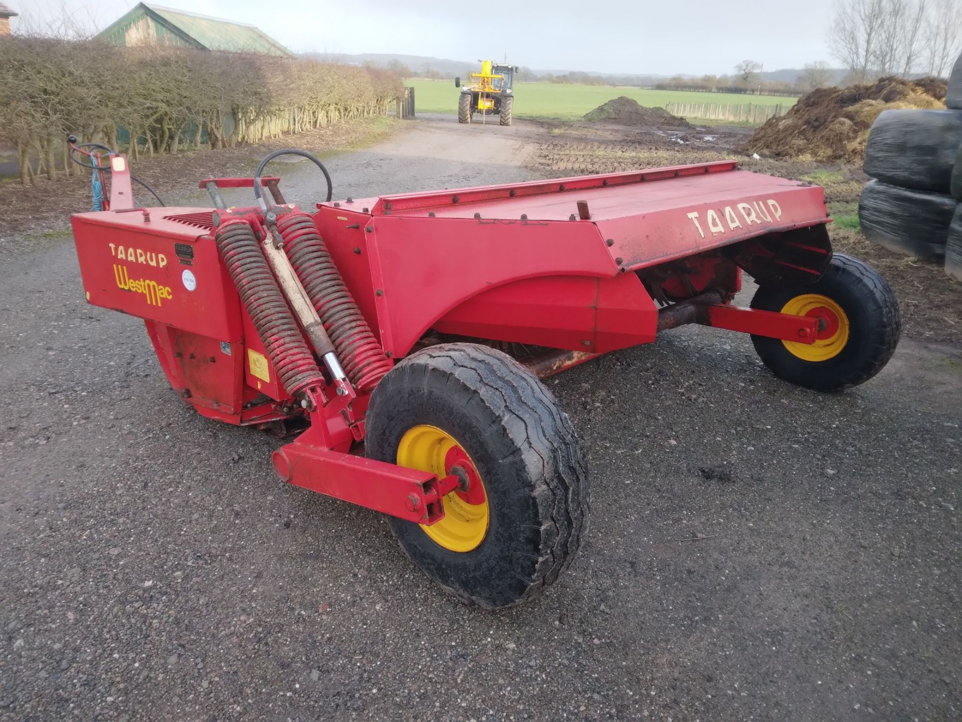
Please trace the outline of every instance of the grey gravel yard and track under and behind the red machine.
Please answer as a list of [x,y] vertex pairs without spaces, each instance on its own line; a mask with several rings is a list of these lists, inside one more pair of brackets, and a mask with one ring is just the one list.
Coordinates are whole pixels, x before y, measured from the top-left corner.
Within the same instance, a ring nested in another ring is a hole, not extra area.
[[[333,158],[336,193],[532,177],[539,132],[419,120]],[[489,612],[378,515],[278,481],[277,439],[182,406],[69,240],[0,259],[2,719],[962,716],[959,348],[904,341],[825,396],[688,327],[552,379],[592,527]]]

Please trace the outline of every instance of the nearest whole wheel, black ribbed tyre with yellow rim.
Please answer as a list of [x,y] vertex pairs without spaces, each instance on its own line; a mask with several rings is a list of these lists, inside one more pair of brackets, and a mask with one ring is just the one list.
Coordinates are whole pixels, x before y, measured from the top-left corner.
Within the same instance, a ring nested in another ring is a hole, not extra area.
[[588,477],[568,416],[534,374],[492,348],[443,344],[397,364],[371,396],[367,455],[463,475],[437,524],[389,522],[411,559],[468,604],[535,595],[585,534]]

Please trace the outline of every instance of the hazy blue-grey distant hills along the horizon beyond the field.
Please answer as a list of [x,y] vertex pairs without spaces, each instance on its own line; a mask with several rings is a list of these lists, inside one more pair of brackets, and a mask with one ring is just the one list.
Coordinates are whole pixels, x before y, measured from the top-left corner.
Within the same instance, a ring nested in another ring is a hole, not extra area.
[[[468,72],[477,71],[477,61],[455,61],[447,58],[432,58],[427,55],[399,55],[397,53],[359,53],[356,55],[351,55],[349,53],[305,53],[305,57],[313,58],[316,60],[326,60],[332,63],[342,63],[348,65],[365,65],[371,64],[377,67],[389,67],[392,64],[403,64],[409,67],[412,71],[417,73],[424,73],[429,70],[437,71],[443,78],[453,78],[455,75],[467,75]],[[513,61],[517,63],[517,61]],[[518,63],[523,65],[523,63]],[[568,75],[571,72],[578,72],[574,70],[558,70],[558,69],[539,69],[531,68],[531,72],[536,75]],[[733,70],[722,71],[731,74]],[[794,85],[798,80],[798,77],[804,72],[800,68],[784,68],[781,70],[770,70],[768,72],[761,73],[762,80],[768,82],[777,83],[788,83]],[[842,82],[845,77],[846,71],[842,69],[837,69],[833,71],[835,76],[832,78],[833,84],[838,84]],[[719,74],[722,74],[719,73]],[[586,71],[584,75],[589,77],[617,77],[618,81],[624,85],[638,85],[638,86],[652,86],[664,80],[668,80],[670,75],[657,75],[651,73],[599,73]],[[683,78],[696,78],[700,77],[691,74],[680,74]]]

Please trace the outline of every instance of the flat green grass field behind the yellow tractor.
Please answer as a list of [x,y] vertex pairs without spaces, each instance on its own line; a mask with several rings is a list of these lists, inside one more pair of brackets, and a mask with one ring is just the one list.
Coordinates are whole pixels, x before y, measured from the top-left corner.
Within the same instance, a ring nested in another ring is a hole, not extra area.
[[[458,89],[450,80],[410,78],[405,85],[414,87],[418,113],[457,113]],[[780,95],[739,95],[728,92],[695,92],[690,90],[646,90],[580,86],[563,83],[515,84],[514,115],[547,120],[576,120],[602,103],[619,95],[634,98],[648,108],[664,108],[666,103],[730,103],[743,105],[795,105],[797,98]]]

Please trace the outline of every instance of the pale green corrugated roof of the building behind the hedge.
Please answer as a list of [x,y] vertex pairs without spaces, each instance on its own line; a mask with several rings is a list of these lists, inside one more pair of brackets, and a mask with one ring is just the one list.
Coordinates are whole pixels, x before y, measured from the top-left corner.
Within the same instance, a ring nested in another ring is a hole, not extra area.
[[[184,42],[207,50],[221,50],[230,53],[260,53],[295,57],[290,50],[277,40],[268,36],[260,28],[241,22],[221,20],[217,17],[172,10],[160,5],[138,3],[129,13],[124,14],[99,34],[113,38],[114,30],[136,22],[140,13],[148,15],[158,24],[167,26]],[[141,15],[142,16],[142,15]],[[122,35],[123,30],[119,31]]]

